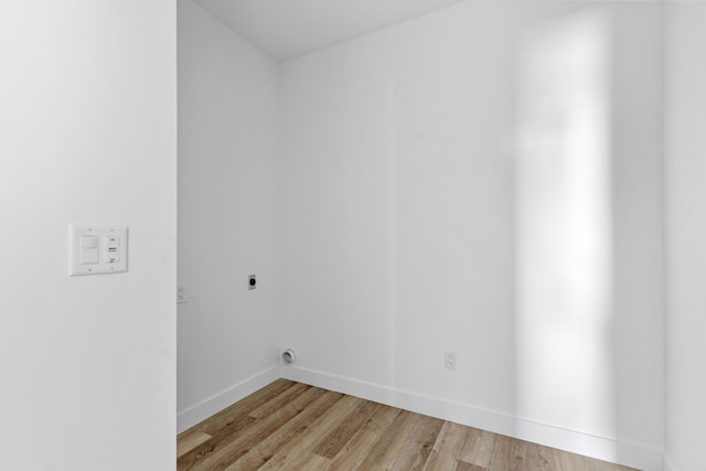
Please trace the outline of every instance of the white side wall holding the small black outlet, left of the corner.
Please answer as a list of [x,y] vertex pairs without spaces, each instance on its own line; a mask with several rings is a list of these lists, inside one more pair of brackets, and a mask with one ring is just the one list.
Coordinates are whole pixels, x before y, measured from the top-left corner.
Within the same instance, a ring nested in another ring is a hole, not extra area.
[[180,430],[277,377],[277,81],[271,58],[179,2]]

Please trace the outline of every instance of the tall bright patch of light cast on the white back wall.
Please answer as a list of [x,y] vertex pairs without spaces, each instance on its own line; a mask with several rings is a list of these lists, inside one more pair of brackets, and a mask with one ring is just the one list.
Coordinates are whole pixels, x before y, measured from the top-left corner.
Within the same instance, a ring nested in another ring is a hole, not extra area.
[[[591,9],[523,39],[515,182],[516,415],[606,438],[617,437],[611,26]],[[610,441],[574,440],[567,449],[618,458]]]

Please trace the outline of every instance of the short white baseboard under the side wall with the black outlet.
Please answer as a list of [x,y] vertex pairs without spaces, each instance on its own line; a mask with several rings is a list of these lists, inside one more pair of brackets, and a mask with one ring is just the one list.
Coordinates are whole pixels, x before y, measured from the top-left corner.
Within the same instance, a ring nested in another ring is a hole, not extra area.
[[237,403],[279,378],[278,366],[271,366],[249,378],[212,396],[201,403],[176,413],[176,433],[195,426],[200,421]]

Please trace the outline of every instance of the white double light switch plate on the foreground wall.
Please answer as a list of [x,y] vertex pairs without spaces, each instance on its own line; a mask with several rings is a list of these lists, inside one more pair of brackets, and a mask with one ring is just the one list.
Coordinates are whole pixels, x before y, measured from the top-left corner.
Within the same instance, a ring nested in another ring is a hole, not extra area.
[[[94,238],[95,237],[95,238]],[[93,245],[97,239],[96,250]],[[92,243],[85,247],[85,240]],[[119,274],[128,270],[128,227],[99,224],[68,225],[68,275]]]

